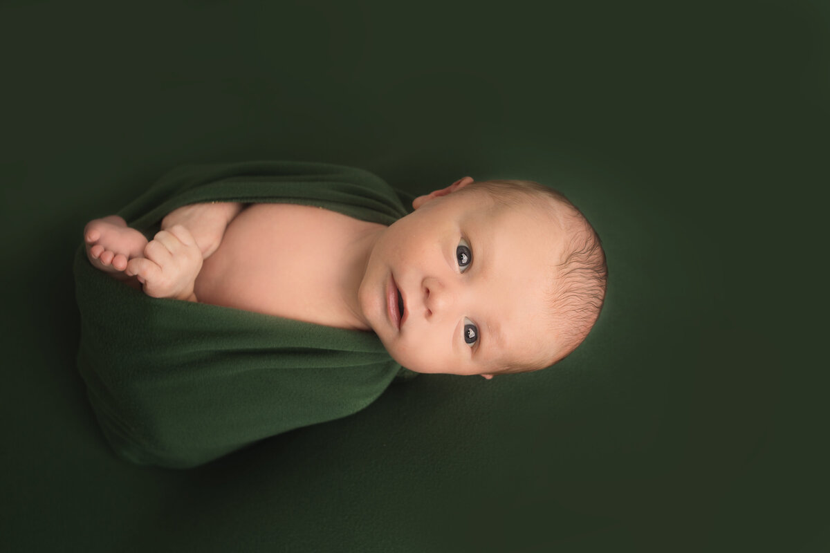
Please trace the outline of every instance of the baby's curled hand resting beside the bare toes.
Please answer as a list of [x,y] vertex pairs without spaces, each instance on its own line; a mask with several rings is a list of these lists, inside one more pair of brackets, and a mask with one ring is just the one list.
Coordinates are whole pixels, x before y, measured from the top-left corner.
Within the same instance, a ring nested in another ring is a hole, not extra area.
[[160,230],[144,246],[144,257],[129,260],[125,273],[136,275],[144,293],[153,298],[192,299],[202,262],[202,251],[190,231],[174,225]]

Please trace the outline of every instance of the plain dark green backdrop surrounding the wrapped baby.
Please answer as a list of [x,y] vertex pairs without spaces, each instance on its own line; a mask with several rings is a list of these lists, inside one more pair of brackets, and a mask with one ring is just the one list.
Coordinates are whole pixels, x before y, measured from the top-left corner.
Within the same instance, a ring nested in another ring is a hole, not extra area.
[[[2,2],[2,551],[828,551],[827,2]],[[525,178],[603,238],[553,370],[188,471],[107,449],[85,221],[181,163]]]

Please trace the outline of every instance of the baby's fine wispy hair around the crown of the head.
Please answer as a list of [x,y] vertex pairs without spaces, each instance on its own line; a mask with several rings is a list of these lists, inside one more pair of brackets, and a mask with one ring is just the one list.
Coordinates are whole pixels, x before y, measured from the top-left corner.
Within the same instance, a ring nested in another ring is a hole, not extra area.
[[485,190],[497,203],[518,206],[530,200],[539,205],[540,198],[553,201],[562,209],[556,217],[569,235],[564,253],[556,265],[556,278],[548,291],[548,303],[552,313],[551,326],[563,348],[552,359],[542,359],[526,365],[501,367],[494,374],[538,371],[562,361],[574,352],[588,336],[599,312],[603,308],[608,281],[608,265],[605,251],[597,231],[588,218],[562,192],[539,182],[495,180],[471,182],[464,190]]

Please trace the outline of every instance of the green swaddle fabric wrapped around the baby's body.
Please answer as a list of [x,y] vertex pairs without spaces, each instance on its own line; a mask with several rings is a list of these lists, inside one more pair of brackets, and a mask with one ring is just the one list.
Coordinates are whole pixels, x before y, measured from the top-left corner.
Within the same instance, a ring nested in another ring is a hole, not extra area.
[[[152,237],[179,206],[295,203],[391,225],[405,192],[328,163],[188,165],[119,212]],[[150,298],[76,252],[78,368],[106,439],[134,463],[186,468],[260,439],[351,415],[416,375],[372,332]]]

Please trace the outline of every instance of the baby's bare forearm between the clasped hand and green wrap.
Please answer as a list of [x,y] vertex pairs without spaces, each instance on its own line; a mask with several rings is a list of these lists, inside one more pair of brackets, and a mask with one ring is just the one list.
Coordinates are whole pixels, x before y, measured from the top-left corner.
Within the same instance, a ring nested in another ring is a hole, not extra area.
[[203,259],[207,259],[219,247],[227,226],[244,208],[245,204],[228,201],[179,207],[164,217],[161,229],[168,230],[175,225],[186,227],[202,251]]

